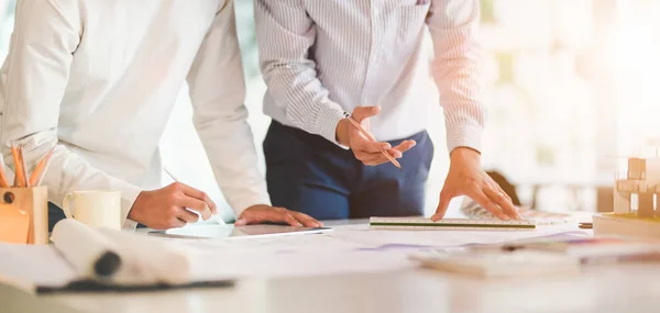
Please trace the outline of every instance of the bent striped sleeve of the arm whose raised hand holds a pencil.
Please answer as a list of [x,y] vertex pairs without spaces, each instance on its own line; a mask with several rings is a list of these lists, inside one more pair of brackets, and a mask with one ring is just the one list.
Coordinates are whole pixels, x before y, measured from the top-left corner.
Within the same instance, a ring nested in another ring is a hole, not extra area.
[[285,108],[287,120],[337,144],[337,124],[343,109],[329,98],[309,58],[314,22],[302,0],[256,0],[260,65],[270,96]]

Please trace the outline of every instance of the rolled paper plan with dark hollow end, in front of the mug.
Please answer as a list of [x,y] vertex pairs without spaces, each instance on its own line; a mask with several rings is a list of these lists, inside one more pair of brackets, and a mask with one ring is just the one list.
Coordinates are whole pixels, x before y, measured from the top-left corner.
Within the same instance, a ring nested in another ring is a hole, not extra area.
[[59,221],[53,228],[51,241],[85,278],[111,279],[122,267],[117,245],[76,220]]

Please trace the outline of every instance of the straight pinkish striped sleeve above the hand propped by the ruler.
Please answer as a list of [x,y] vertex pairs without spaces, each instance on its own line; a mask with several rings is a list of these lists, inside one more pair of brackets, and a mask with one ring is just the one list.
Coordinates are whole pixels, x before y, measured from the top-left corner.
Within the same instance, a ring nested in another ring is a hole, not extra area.
[[432,74],[444,109],[449,152],[482,148],[486,110],[479,20],[479,0],[431,0],[427,24],[433,42]]

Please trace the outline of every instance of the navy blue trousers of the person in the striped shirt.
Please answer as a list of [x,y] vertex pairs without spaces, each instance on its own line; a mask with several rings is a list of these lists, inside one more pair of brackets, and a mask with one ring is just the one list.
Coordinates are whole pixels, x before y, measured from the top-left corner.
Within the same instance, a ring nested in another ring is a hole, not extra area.
[[389,143],[404,139],[417,146],[399,159],[403,170],[365,166],[351,150],[273,121],[263,145],[271,201],[318,220],[424,215],[433,144],[426,131]]

